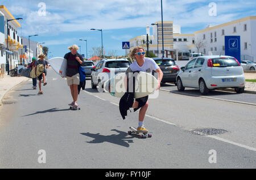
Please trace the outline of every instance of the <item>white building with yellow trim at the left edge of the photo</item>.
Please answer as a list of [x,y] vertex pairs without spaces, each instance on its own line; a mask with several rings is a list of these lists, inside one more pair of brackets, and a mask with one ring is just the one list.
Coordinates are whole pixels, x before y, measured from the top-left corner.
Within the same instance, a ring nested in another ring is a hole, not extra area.
[[0,6],[0,64],[6,64],[6,49],[7,40],[9,51],[13,55],[9,55],[10,69],[14,68],[20,62],[18,49],[23,48],[22,39],[18,36],[17,28],[20,28],[20,24],[17,20],[11,20],[8,22],[8,33],[7,33],[7,19],[15,19],[13,15],[3,5]]

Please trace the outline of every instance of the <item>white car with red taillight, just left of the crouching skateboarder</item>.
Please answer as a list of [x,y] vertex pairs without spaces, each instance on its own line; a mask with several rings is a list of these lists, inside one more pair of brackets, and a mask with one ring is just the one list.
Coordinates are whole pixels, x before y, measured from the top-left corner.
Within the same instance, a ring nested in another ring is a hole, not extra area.
[[[99,83],[103,85],[110,78],[110,72],[113,72],[114,75],[126,72],[129,66],[130,62],[127,59],[102,59],[92,68],[90,79],[92,88],[95,89]],[[101,78],[102,72],[104,73],[104,78]]]

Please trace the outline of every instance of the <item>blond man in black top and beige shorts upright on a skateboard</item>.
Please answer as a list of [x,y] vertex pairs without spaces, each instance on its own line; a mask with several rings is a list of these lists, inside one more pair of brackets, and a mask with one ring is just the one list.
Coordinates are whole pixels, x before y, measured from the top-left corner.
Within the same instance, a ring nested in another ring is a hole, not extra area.
[[78,85],[80,84],[80,75],[79,75],[79,67],[82,62],[84,62],[84,58],[77,53],[79,49],[77,45],[72,45],[68,47],[71,52],[64,55],[64,58],[67,59],[67,83],[71,90],[71,95],[73,98],[73,102],[68,104],[73,108],[77,108],[77,98],[79,95]]

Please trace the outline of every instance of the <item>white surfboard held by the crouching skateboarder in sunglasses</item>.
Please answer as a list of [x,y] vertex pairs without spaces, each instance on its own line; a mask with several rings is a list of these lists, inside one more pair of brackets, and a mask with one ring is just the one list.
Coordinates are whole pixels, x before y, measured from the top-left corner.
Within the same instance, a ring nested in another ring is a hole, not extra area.
[[[135,98],[150,95],[158,88],[158,80],[147,72],[135,72]],[[114,97],[122,97],[126,92],[125,72],[117,74],[104,83],[104,91]],[[129,81],[129,92],[133,92],[133,82]]]

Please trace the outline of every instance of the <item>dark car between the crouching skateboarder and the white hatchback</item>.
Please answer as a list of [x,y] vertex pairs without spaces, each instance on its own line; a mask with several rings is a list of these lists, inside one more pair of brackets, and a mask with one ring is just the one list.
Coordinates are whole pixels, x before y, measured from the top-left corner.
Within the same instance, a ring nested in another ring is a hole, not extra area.
[[179,66],[176,65],[174,59],[171,58],[152,58],[155,60],[156,64],[163,71],[163,79],[162,83],[175,83],[176,84],[176,76],[180,71]]

